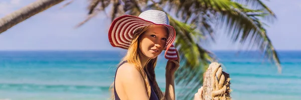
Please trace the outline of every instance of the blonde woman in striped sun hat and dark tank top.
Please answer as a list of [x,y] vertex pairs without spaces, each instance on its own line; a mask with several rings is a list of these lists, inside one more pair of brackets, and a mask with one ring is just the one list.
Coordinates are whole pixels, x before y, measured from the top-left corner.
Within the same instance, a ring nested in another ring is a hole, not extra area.
[[[112,46],[128,49],[116,69],[113,98],[175,99],[174,73],[180,66],[180,58],[173,47],[176,32],[165,12],[146,10],[138,17],[120,16],[113,20],[108,34]],[[169,59],[165,93],[155,76],[157,58],[163,50]]]

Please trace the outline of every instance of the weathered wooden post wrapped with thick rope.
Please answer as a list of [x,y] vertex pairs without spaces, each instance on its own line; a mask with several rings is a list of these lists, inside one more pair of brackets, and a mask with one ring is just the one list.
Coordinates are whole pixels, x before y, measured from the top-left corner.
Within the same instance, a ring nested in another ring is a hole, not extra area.
[[216,99],[231,99],[230,76],[222,71],[221,64],[212,62],[204,73],[203,100]]

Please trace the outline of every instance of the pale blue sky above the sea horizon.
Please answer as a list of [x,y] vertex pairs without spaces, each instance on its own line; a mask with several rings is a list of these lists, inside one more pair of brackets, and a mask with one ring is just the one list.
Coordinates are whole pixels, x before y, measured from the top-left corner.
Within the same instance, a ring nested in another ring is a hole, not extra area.
[[[0,17],[4,17],[35,0],[1,0]],[[66,0],[69,1],[69,0]],[[111,47],[107,31],[110,18],[103,12],[79,28],[74,26],[87,15],[87,0],[60,9],[66,1],[17,24],[0,34],[0,50],[120,50]],[[277,20],[267,27],[268,36],[277,50],[301,50],[300,0],[272,0],[266,4],[276,13]],[[222,31],[217,42],[207,49],[241,50]]]

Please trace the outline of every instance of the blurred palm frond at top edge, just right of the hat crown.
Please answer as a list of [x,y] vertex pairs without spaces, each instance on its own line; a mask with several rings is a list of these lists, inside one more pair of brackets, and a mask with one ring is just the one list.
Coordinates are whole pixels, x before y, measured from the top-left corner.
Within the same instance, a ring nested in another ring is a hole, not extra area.
[[[212,20],[215,18],[213,10],[209,10],[203,1],[199,0],[166,0],[170,9],[174,10],[177,17],[185,23],[194,24],[206,39],[215,41]],[[163,2],[161,2],[163,3]],[[174,8],[171,8],[174,7]],[[209,37],[209,38],[208,38]]]

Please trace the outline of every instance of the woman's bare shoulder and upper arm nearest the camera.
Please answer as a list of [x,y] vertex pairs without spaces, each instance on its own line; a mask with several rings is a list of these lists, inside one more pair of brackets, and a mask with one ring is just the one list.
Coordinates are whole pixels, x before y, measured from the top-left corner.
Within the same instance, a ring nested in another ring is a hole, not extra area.
[[115,85],[120,99],[149,99],[143,78],[132,64],[124,63],[118,68],[115,83],[121,83],[119,87]]

